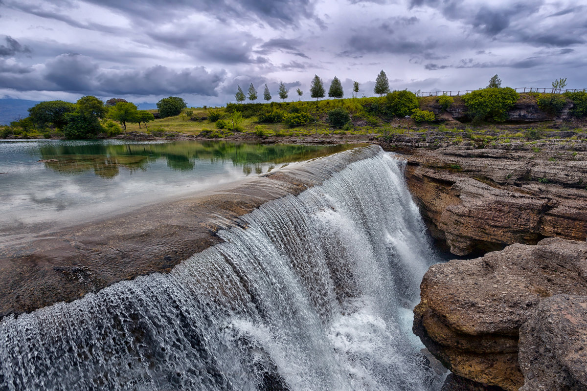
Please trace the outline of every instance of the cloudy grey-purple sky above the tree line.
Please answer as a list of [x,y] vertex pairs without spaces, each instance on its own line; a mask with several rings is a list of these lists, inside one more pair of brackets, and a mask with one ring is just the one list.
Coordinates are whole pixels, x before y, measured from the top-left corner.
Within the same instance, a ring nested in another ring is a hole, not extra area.
[[314,74],[372,96],[382,69],[412,91],[585,88],[586,39],[587,0],[0,0],[0,98],[309,99]]

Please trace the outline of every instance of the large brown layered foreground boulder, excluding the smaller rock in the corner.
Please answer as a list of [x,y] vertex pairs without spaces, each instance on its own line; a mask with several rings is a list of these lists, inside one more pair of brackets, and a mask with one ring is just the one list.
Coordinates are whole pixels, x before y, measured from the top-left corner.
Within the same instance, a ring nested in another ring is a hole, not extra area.
[[519,329],[544,298],[587,291],[587,243],[548,238],[437,264],[420,288],[413,329],[430,352],[459,376],[518,390]]

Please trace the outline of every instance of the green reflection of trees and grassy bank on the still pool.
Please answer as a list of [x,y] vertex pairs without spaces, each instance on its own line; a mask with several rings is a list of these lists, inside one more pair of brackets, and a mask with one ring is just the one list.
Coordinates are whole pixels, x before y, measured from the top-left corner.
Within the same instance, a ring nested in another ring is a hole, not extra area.
[[[150,162],[165,158],[167,166],[177,171],[191,171],[196,159],[212,164],[232,162],[242,165],[246,175],[252,166],[262,173],[261,163],[282,164],[302,161],[348,149],[346,145],[249,144],[228,141],[175,141],[156,144],[106,144],[102,141],[83,144],[46,145],[41,148],[45,165],[58,172],[83,174],[93,171],[103,178],[114,178],[120,168],[131,172],[146,171]],[[56,159],[56,161],[49,161]]]

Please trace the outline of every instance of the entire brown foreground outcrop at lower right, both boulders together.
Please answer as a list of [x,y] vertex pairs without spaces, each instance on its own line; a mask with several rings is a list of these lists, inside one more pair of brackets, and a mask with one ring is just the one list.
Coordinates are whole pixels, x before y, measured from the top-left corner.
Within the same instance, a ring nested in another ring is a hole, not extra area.
[[[414,332],[457,375],[511,391],[525,379],[527,390],[546,383],[553,390],[587,387],[581,375],[587,304],[545,301],[585,294],[587,243],[549,238],[437,264],[420,288]],[[567,383],[575,388],[556,386]]]

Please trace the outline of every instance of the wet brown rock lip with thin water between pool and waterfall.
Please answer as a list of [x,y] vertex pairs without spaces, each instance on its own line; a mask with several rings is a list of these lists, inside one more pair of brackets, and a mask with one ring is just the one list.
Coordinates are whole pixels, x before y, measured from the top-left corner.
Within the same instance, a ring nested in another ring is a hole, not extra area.
[[229,188],[146,206],[113,218],[31,234],[0,247],[0,318],[72,301],[121,280],[166,273],[210,247],[224,227],[269,200],[299,194],[379,147],[361,147],[258,176]]

